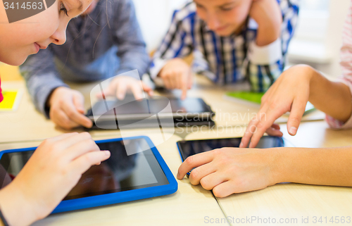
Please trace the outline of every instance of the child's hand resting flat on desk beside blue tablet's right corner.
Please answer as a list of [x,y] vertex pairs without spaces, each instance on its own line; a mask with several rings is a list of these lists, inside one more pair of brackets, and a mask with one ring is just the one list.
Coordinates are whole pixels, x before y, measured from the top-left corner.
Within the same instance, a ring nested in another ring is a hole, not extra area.
[[182,163],[177,179],[190,170],[191,184],[213,189],[217,197],[264,189],[279,182],[275,149],[215,149],[190,156]]

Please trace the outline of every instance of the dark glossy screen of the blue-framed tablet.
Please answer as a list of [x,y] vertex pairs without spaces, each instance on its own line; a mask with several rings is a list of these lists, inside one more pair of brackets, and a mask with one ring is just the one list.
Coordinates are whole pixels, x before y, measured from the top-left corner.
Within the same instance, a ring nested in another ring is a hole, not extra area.
[[[111,157],[85,172],[77,185],[63,200],[123,192],[145,187],[169,184],[161,166],[145,139],[99,143],[101,150],[111,151]],[[126,146],[144,149],[127,156]],[[1,188],[11,182],[27,163],[33,151],[4,153],[0,159]]]

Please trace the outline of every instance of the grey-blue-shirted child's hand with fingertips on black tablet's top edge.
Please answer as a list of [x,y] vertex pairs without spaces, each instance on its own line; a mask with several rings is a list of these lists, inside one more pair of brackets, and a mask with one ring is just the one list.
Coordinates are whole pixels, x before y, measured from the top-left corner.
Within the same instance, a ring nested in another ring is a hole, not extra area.
[[[108,86],[108,89],[104,91],[106,96],[116,96],[119,100],[125,99],[126,93],[128,90],[132,91],[134,98],[136,100],[143,99],[143,92],[149,94],[149,96],[153,96],[153,89],[149,87],[147,84],[142,82],[141,87],[140,80],[135,79],[130,76],[117,76],[115,77]],[[103,96],[101,94],[96,95],[99,99],[102,99]]]

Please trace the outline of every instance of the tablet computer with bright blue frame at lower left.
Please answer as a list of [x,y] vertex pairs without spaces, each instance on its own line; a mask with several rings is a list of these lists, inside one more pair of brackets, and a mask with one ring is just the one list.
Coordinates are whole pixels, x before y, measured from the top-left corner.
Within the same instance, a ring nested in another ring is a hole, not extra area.
[[[163,196],[177,191],[175,177],[149,137],[108,139],[96,144],[101,150],[111,151],[111,157],[87,170],[53,213]],[[127,148],[141,151],[128,156]],[[35,149],[1,151],[1,188],[18,175]]]

